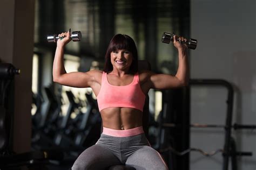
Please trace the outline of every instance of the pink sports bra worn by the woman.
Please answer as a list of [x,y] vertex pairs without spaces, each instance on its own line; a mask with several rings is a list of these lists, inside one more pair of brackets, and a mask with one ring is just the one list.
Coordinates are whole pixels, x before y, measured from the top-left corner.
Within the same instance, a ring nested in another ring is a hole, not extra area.
[[107,73],[102,74],[102,86],[97,96],[99,111],[106,108],[134,108],[143,111],[145,94],[140,88],[139,75],[126,86],[113,86],[107,81]]

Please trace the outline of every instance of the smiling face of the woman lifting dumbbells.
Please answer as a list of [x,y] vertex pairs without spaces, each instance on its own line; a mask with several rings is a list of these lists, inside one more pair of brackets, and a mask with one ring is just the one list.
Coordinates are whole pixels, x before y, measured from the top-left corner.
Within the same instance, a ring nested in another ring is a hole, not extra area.
[[117,49],[116,51],[112,51],[111,54],[111,63],[113,65],[113,69],[117,68],[120,70],[129,70],[133,56],[130,51],[126,49]]

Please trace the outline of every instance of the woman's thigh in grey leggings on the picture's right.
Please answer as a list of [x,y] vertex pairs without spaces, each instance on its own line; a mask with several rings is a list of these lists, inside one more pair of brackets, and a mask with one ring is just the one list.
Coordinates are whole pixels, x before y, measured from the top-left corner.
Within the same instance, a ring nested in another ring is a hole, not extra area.
[[126,165],[142,169],[168,169],[161,155],[150,146],[144,146],[130,155]]

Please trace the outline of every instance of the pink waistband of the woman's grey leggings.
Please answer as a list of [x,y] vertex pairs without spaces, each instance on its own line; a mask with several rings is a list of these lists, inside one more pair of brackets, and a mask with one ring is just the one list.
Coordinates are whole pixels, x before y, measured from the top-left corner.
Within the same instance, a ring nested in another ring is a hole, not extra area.
[[103,134],[114,136],[114,137],[130,137],[144,133],[143,126],[127,130],[116,130],[103,127]]

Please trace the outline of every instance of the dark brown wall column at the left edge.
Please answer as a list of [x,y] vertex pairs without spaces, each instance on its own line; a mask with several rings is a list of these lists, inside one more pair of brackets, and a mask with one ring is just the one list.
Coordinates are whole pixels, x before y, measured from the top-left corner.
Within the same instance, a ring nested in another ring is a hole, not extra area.
[[4,0],[0,5],[0,60],[21,69],[15,77],[13,149],[30,150],[31,76],[35,1]]

